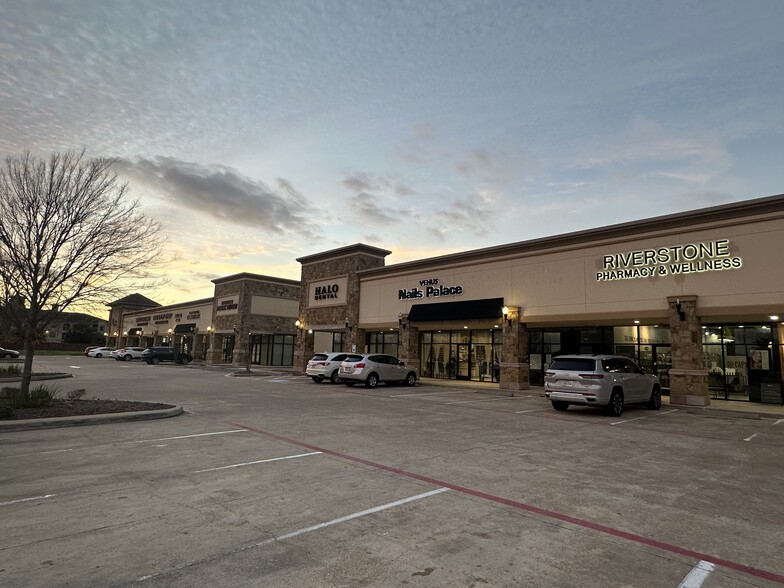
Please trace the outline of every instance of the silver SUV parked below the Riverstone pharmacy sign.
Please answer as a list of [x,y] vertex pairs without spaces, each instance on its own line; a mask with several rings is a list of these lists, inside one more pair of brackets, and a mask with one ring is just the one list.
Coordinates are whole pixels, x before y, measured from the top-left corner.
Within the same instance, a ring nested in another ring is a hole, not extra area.
[[620,416],[626,404],[661,408],[659,378],[620,355],[562,355],[544,374],[544,393],[555,410],[570,404],[598,406]]

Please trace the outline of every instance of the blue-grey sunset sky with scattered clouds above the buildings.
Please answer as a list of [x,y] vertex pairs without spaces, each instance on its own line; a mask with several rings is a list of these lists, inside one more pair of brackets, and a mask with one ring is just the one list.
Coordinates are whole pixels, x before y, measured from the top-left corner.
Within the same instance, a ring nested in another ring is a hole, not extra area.
[[117,158],[174,304],[780,194],[782,30],[781,0],[0,0],[0,157]]

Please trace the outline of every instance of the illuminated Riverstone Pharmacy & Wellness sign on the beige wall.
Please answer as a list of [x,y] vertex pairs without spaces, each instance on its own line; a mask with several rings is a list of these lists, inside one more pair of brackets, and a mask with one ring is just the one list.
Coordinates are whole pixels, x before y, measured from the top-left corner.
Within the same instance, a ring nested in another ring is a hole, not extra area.
[[596,272],[596,281],[694,274],[739,269],[742,266],[743,260],[730,253],[729,239],[717,239],[605,255],[602,258],[603,271]]

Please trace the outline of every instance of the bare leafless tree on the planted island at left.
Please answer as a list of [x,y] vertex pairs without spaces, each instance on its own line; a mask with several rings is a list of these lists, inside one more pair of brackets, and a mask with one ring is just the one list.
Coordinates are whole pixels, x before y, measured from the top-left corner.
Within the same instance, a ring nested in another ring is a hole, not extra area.
[[0,167],[0,310],[24,341],[23,393],[35,343],[59,312],[138,289],[159,263],[160,227],[115,163],[84,151],[24,153]]

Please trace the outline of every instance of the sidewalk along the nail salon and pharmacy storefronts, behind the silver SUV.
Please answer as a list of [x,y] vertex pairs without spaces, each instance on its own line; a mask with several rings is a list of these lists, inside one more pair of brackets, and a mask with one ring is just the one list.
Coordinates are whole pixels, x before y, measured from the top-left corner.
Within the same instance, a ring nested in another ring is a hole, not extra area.
[[[541,396],[544,398],[542,386],[531,386],[530,390],[500,390],[498,384],[489,382],[473,382],[470,380],[442,380],[437,378],[420,378],[419,383],[427,386],[444,386],[448,388],[471,389],[484,394],[500,394],[503,396]],[[512,393],[513,392],[513,393]],[[662,405],[670,406],[670,397],[662,396]],[[708,406],[678,406],[677,408],[694,413],[741,418],[772,418],[784,419],[784,406],[781,404],[760,404],[759,402],[744,402],[741,400],[716,400],[710,399]]]

